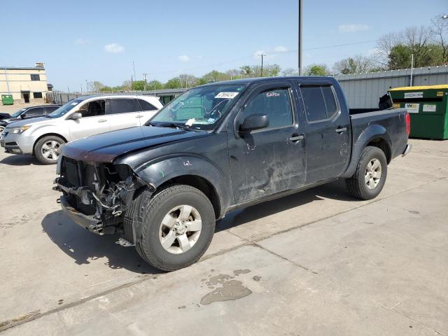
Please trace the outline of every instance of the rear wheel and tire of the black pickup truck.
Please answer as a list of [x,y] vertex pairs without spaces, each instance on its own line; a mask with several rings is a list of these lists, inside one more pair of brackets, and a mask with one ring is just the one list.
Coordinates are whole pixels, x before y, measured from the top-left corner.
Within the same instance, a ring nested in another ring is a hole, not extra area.
[[360,200],[372,200],[381,193],[387,176],[387,160],[378,147],[367,146],[356,167],[356,172],[346,179],[349,193]]

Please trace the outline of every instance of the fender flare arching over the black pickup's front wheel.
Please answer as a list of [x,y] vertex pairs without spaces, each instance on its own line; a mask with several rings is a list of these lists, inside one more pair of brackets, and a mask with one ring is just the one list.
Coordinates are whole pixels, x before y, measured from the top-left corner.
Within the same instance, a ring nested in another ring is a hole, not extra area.
[[146,183],[155,188],[176,177],[193,175],[207,180],[214,187],[221,206],[221,216],[223,211],[230,206],[230,188],[227,179],[219,167],[213,162],[199,155],[171,156],[160,158],[158,161],[148,162],[138,167],[134,172]]

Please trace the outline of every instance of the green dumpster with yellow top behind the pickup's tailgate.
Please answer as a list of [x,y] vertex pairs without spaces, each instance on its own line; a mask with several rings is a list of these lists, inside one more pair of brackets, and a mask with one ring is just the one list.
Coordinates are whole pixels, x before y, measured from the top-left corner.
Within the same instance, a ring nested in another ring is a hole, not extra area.
[[409,137],[448,139],[448,84],[395,87],[389,94],[393,107],[403,107],[411,116]]

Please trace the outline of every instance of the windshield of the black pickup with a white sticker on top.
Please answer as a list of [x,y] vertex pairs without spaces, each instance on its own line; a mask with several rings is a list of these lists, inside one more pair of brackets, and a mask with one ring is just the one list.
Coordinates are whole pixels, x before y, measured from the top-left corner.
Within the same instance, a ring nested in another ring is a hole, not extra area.
[[244,85],[195,87],[174,99],[146,125],[179,125],[195,130],[213,130]]

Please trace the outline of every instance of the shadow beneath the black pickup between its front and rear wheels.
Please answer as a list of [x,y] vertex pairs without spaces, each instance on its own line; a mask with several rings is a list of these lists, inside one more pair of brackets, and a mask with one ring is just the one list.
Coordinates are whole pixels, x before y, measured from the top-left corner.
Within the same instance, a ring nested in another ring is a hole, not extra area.
[[276,200],[262,202],[251,207],[236,209],[230,212],[221,221],[216,223],[215,232],[235,228],[238,225],[256,221],[260,218],[277,214],[281,211],[300,207],[301,205],[321,201],[324,199],[340,200],[346,202],[359,202],[346,191],[344,180],[327,183],[322,186],[304,190]]

